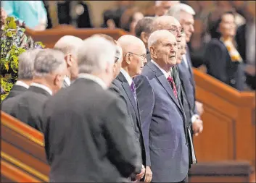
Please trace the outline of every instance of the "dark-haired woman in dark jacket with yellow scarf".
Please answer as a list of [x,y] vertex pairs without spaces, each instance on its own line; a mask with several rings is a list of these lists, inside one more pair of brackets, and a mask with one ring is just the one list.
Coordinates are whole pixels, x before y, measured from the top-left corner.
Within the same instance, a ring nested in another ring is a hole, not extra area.
[[212,40],[207,44],[204,56],[207,74],[237,90],[244,90],[244,61],[235,46],[234,12],[217,9],[209,18]]

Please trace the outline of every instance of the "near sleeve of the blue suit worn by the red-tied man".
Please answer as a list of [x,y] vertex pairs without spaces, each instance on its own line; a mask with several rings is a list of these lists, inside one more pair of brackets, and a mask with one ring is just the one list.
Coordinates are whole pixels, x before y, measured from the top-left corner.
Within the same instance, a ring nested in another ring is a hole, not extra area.
[[134,78],[134,82],[136,85],[136,94],[141,114],[142,135],[144,137],[146,150],[146,166],[151,166],[149,153],[149,130],[154,108],[154,92],[146,76],[139,75]]

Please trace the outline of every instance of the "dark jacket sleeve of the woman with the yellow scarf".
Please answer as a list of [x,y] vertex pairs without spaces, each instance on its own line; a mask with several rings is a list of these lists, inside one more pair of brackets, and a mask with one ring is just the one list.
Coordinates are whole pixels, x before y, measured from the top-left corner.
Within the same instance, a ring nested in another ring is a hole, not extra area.
[[216,79],[228,84],[228,75],[226,72],[226,55],[217,41],[209,43],[205,51],[205,61],[207,72]]

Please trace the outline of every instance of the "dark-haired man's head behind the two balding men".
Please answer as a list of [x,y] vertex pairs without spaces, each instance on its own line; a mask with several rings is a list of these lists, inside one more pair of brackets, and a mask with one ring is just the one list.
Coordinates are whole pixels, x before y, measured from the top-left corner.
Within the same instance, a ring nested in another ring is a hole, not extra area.
[[149,35],[151,34],[152,30],[152,22],[154,17],[144,17],[143,19],[139,20],[135,27],[135,35],[137,38],[140,38],[141,41],[146,46],[146,54],[149,54],[149,50],[147,48],[147,41],[149,39]]

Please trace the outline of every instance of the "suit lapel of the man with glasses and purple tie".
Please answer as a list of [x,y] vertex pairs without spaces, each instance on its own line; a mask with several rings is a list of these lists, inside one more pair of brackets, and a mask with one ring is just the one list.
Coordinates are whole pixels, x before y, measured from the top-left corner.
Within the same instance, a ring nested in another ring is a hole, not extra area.
[[120,80],[120,82],[122,82],[123,90],[125,90],[125,93],[128,96],[128,98],[129,98],[131,106],[133,106],[133,110],[135,111],[136,118],[137,118],[137,120],[139,122],[139,125],[141,126],[141,120],[140,120],[140,117],[139,117],[139,108],[136,105],[136,101],[134,99],[133,93],[131,92],[131,87],[130,87],[128,81],[125,79],[125,76],[121,72],[117,76],[117,80]]

